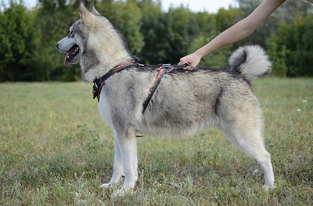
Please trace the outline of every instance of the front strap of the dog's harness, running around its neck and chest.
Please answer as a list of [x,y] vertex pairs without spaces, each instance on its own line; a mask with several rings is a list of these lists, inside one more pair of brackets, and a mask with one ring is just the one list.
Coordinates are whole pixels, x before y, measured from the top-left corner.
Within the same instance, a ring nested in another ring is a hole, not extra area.
[[137,65],[137,64],[133,62],[129,62],[129,63],[125,63],[122,65],[118,65],[114,67],[113,69],[111,69],[108,73],[104,74],[104,76],[102,76],[101,78],[96,78],[95,80],[93,80],[93,98],[97,97],[98,102],[99,102],[100,92],[101,92],[102,87],[105,85],[105,80],[107,80],[113,74],[120,72],[124,69],[127,69],[128,67],[132,67],[134,65]]

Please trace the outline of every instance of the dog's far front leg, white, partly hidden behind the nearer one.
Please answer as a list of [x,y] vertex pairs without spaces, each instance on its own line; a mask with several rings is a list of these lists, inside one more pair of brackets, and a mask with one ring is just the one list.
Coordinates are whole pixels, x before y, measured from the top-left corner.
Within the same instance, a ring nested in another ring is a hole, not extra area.
[[124,175],[122,151],[120,150],[120,144],[119,144],[118,138],[119,138],[118,133],[114,132],[115,153],[114,153],[112,178],[109,183],[102,184],[100,187],[106,187],[106,188],[113,187],[115,184],[117,184],[120,181],[120,178],[122,178],[122,175]]

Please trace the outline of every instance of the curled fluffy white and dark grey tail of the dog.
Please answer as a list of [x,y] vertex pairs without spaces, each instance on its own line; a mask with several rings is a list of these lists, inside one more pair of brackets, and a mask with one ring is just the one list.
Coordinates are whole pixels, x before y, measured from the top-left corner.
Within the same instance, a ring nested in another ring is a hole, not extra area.
[[249,82],[261,76],[271,68],[264,49],[261,46],[242,46],[228,60],[230,70],[238,72]]

